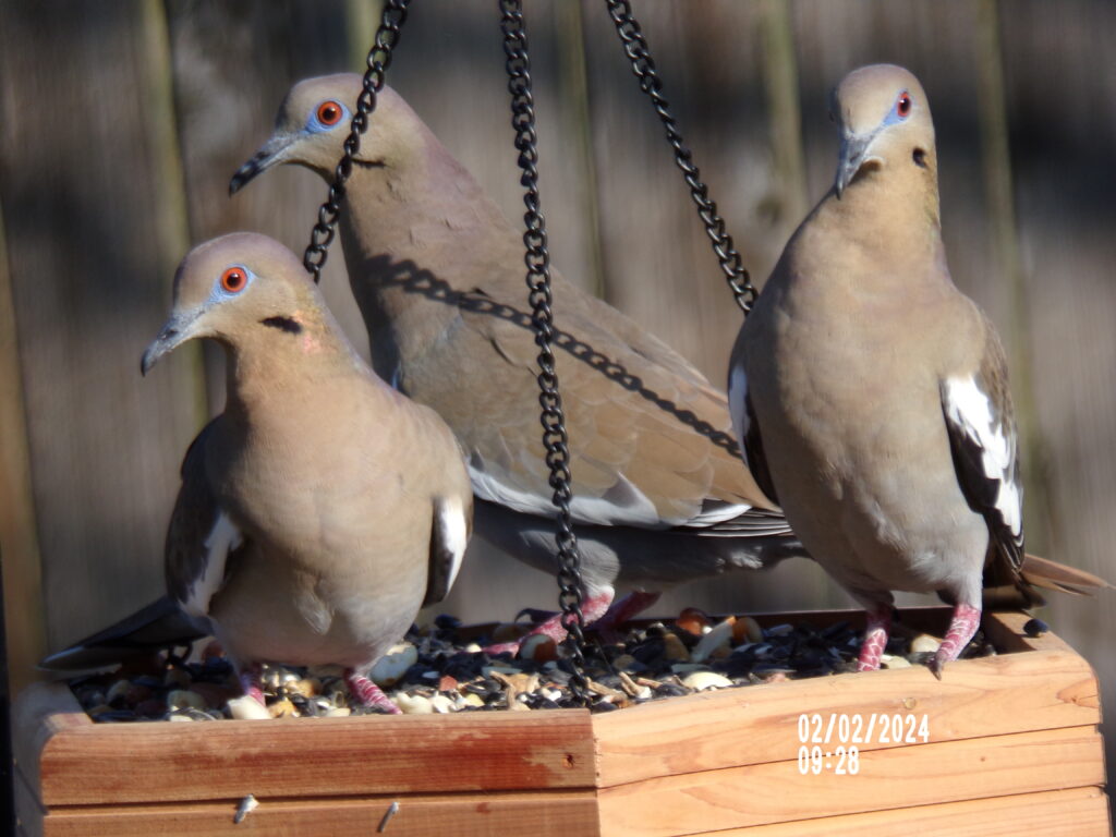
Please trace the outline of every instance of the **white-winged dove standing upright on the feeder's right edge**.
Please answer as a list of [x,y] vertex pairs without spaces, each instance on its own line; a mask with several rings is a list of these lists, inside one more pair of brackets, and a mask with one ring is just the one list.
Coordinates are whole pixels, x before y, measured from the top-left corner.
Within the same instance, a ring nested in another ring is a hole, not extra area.
[[926,94],[860,68],[834,93],[837,180],[787,244],[737,338],[729,400],[745,462],[817,561],[868,612],[878,667],[892,590],[939,591],[953,618],[931,667],[975,633],[982,576],[1107,586],[1023,554],[1008,371],[954,287]]

